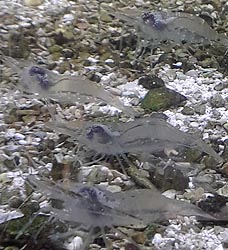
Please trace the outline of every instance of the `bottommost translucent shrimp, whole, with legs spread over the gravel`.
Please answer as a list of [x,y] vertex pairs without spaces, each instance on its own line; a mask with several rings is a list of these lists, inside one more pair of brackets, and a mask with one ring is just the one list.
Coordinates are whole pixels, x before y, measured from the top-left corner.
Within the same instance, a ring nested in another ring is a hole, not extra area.
[[[34,176],[28,176],[27,182],[35,191],[61,203],[61,208],[50,205],[46,212],[62,222],[71,225],[75,223],[77,229],[88,231],[88,237],[81,249],[88,249],[89,243],[97,236],[97,228],[100,228],[104,242],[107,242],[104,229],[110,228],[133,243],[116,227],[145,226],[175,218],[177,215],[196,216],[206,221],[217,220],[195,205],[166,198],[158,191],[150,189],[111,193],[98,186],[79,183],[71,183],[64,189],[61,183],[52,183],[47,178],[38,179]],[[45,211],[45,208],[41,211]]]

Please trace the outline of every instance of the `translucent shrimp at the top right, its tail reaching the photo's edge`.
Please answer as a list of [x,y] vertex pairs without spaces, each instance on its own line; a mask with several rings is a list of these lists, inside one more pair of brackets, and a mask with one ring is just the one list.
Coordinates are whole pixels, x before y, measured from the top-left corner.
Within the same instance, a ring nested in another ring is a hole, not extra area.
[[151,49],[163,42],[173,44],[219,43],[228,47],[228,37],[212,29],[202,18],[184,12],[153,11],[140,15],[139,11],[126,9],[112,13],[136,28],[139,47]]

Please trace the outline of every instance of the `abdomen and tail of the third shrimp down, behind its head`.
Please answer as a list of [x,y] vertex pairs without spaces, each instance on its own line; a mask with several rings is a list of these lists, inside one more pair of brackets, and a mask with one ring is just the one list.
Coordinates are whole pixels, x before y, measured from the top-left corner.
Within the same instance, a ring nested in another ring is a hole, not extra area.
[[212,156],[216,161],[222,158],[200,138],[178,130],[158,118],[141,118],[126,123],[120,136],[120,143],[131,153],[154,153],[166,148],[195,148]]

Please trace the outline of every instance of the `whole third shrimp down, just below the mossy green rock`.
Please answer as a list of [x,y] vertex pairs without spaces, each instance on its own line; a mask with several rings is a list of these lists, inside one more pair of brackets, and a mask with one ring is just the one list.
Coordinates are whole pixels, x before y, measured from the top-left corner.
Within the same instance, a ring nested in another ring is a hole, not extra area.
[[[82,122],[81,122],[82,123]],[[121,158],[127,163],[127,154],[153,154],[165,149],[195,148],[213,157],[218,163],[222,158],[200,138],[182,132],[159,118],[139,118],[127,123],[99,124],[85,122],[83,128],[73,128],[73,123],[49,122],[57,132],[75,139],[79,145],[95,151],[95,155],[115,156],[122,170]],[[84,131],[84,132],[83,132]]]

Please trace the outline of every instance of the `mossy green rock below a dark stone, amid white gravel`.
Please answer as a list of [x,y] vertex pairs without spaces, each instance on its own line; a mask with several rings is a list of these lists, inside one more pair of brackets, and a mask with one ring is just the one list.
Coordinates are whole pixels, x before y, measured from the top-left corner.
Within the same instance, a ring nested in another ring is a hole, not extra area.
[[168,88],[150,90],[141,101],[141,107],[148,111],[159,111],[178,106],[186,97]]

